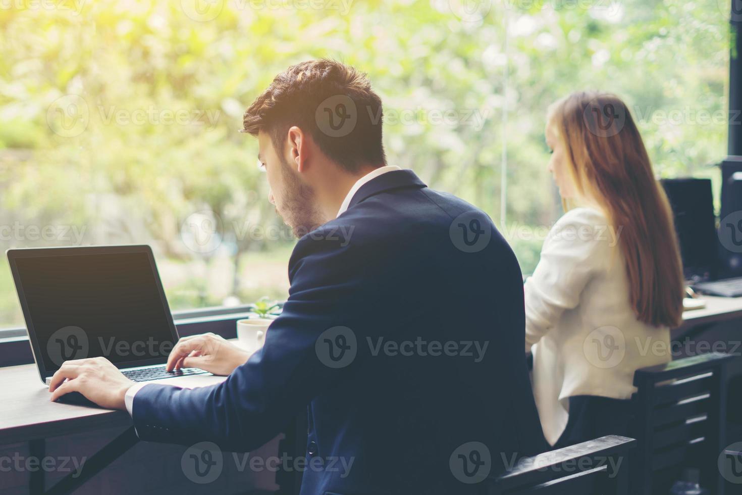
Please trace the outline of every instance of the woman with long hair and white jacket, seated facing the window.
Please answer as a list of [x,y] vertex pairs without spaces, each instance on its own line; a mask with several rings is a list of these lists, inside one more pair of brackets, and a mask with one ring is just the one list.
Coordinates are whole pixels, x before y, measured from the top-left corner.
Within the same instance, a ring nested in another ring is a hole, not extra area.
[[626,105],[577,92],[548,111],[565,214],[525,283],[526,350],[546,439],[628,433],[634,371],[670,361],[683,273],[666,195]]

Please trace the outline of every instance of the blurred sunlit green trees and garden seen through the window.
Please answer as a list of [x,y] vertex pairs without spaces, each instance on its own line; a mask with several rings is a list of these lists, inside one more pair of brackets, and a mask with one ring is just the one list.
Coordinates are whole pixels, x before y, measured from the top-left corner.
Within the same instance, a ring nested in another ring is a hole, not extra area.
[[[0,0],[0,248],[149,243],[172,309],[283,299],[295,239],[242,114],[276,73],[369,74],[390,164],[484,209],[524,273],[562,214],[545,114],[626,100],[657,177],[717,181],[729,0]],[[718,183],[714,189],[718,191]],[[0,258],[0,327],[23,319]]]

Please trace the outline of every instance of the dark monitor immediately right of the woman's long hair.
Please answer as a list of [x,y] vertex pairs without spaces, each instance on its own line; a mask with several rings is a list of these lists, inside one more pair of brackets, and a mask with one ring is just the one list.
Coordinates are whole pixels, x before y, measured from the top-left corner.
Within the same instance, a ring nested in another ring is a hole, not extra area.
[[686,280],[715,278],[718,239],[711,180],[682,177],[663,179],[660,183],[672,207]]

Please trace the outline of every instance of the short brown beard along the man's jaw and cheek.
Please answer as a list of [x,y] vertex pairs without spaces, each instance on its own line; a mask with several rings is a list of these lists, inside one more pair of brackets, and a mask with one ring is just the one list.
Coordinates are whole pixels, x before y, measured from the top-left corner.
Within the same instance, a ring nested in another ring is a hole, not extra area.
[[281,163],[281,174],[284,184],[283,204],[280,211],[277,208],[276,212],[283,217],[283,223],[291,227],[294,235],[300,238],[329,219],[321,214],[314,189],[302,183],[288,163]]

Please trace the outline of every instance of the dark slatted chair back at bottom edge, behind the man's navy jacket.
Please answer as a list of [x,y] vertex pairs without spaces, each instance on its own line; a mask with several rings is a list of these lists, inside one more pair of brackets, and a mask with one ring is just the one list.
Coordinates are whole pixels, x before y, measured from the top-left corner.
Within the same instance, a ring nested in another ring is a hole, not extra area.
[[525,457],[502,476],[488,480],[488,495],[628,493],[628,451],[636,440],[600,439]]

